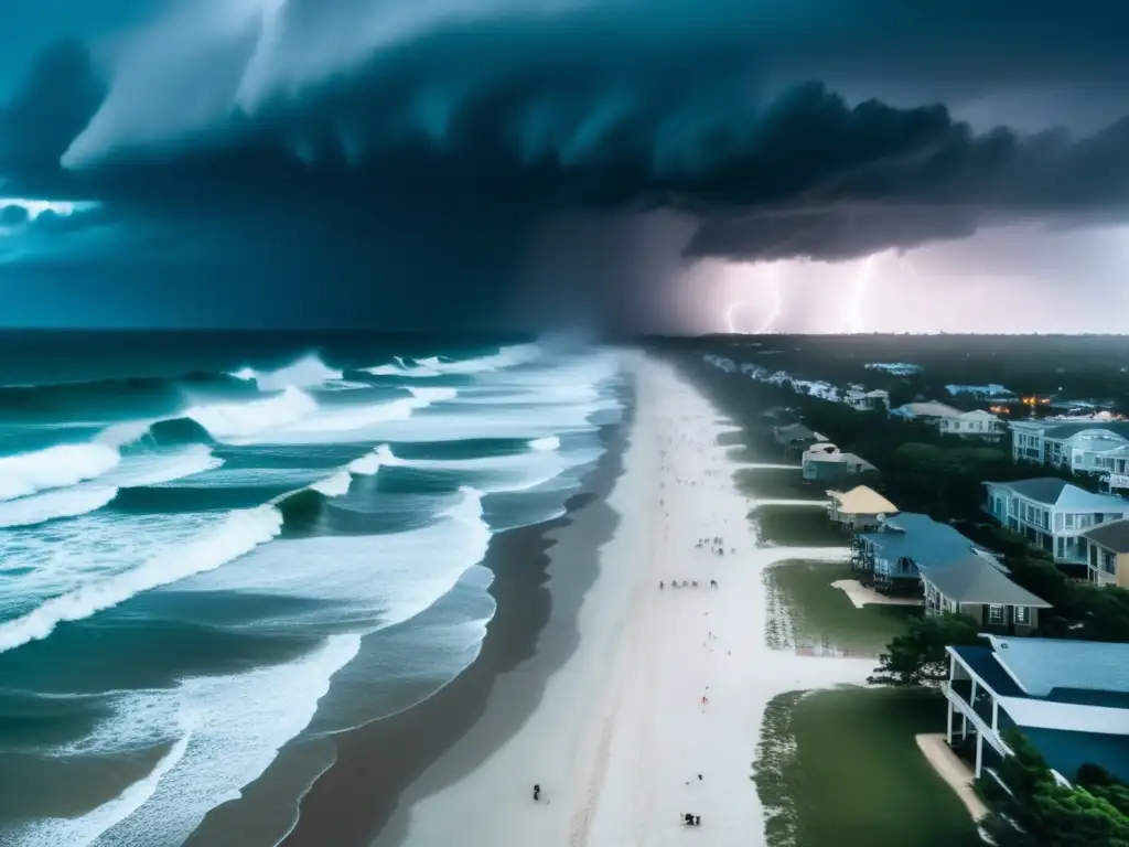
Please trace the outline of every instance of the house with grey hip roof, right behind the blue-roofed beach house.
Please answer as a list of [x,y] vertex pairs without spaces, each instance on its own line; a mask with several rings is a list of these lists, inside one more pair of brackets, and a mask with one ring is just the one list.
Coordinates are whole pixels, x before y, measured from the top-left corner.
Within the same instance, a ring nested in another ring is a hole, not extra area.
[[1000,635],[1031,635],[1039,610],[1051,604],[1013,583],[1003,566],[983,551],[921,568],[925,613],[968,614],[980,628]]

